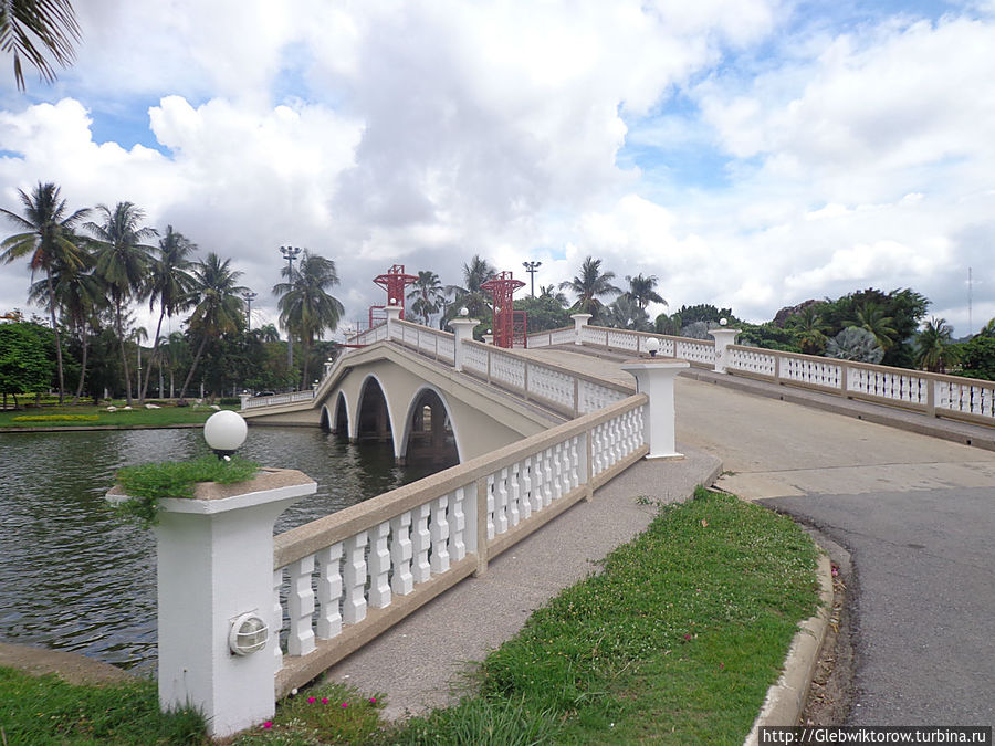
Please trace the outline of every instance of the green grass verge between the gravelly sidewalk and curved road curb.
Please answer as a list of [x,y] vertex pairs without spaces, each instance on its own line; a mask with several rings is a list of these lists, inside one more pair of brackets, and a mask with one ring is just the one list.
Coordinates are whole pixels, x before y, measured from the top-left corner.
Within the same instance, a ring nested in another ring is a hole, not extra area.
[[237,743],[740,744],[816,608],[816,559],[789,519],[699,490],[537,610],[452,707],[343,742],[337,713],[305,732],[285,705]]

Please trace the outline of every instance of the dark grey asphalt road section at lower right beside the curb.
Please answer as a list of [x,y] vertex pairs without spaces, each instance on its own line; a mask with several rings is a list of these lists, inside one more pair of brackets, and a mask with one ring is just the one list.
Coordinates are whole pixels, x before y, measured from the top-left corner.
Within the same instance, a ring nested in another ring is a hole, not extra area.
[[857,694],[848,724],[995,723],[995,490],[758,502],[850,551]]

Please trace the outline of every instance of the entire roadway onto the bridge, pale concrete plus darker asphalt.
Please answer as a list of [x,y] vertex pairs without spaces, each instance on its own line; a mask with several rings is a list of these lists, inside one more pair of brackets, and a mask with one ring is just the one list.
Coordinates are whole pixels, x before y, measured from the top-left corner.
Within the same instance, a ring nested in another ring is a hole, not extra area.
[[995,430],[692,375],[701,380],[675,386],[681,448],[722,459],[719,486],[813,524],[850,551],[857,698],[849,723],[995,723],[995,452],[986,450]]

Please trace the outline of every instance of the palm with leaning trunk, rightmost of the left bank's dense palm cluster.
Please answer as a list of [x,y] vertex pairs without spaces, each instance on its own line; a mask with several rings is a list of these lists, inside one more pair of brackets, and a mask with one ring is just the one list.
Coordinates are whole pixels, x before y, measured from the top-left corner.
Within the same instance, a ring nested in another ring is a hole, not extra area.
[[197,305],[187,324],[190,335],[200,337],[200,344],[190,370],[187,371],[184,388],[180,389],[180,399],[187,396],[187,387],[193,378],[208,339],[218,339],[222,334],[234,334],[244,318],[240,294],[247,288],[235,284],[242,273],[232,271],[230,264],[231,260],[221,261],[218,254],[211,252],[207,259],[193,265],[192,296],[197,298]]

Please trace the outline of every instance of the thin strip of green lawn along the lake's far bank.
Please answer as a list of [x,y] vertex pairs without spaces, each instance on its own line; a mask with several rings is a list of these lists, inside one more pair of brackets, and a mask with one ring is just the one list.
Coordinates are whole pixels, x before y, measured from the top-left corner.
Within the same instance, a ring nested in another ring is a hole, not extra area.
[[[163,428],[171,424],[203,424],[207,419],[214,413],[214,410],[207,406],[200,407],[172,407],[163,406],[161,409],[145,409],[138,407],[130,410],[121,409],[124,402],[114,402],[118,408],[115,412],[108,412],[106,404],[101,407],[78,406],[78,407],[45,407],[43,409],[30,409],[27,412],[21,410],[8,409],[0,411],[0,428],[17,428],[19,430],[31,430],[33,428],[52,428],[52,427],[72,427],[72,425],[116,425],[116,427],[148,427]],[[238,406],[222,407],[222,409],[239,410]],[[29,420],[24,417],[44,417],[43,421]],[[51,419],[57,417],[60,419]],[[80,417],[87,418],[80,421]],[[64,418],[64,419],[63,419]],[[93,419],[95,418],[95,419]]]

